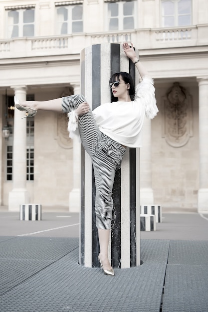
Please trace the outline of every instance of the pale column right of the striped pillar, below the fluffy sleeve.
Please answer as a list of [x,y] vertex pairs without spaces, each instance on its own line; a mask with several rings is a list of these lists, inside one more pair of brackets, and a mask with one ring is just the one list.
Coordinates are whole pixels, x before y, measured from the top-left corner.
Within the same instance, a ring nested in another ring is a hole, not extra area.
[[152,205],[154,204],[154,194],[152,189],[151,120],[147,118],[144,120],[142,143],[143,148],[140,151],[140,203],[141,205]]

